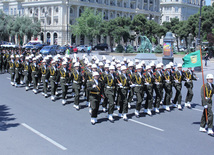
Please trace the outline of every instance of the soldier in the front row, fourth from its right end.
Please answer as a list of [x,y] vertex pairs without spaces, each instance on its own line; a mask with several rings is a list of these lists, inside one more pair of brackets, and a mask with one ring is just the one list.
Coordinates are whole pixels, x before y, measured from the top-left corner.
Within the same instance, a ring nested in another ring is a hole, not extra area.
[[159,113],[159,107],[160,107],[160,102],[162,101],[163,98],[163,74],[161,72],[161,64],[157,64],[157,70],[155,73],[153,73],[154,78],[155,78],[155,104],[154,104],[154,111],[156,113]]

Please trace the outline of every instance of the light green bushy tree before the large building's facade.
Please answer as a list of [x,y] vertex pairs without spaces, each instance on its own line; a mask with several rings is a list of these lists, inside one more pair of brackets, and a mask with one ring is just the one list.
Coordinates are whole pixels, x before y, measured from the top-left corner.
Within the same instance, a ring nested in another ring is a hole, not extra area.
[[94,37],[99,35],[101,23],[101,13],[95,14],[93,9],[86,7],[81,16],[76,18],[76,23],[70,25],[70,28],[74,35],[86,35],[92,41]]

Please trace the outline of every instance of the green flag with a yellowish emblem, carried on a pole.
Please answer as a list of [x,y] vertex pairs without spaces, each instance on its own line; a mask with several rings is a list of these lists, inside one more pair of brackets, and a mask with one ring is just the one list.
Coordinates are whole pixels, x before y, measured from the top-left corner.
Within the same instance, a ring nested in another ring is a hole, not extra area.
[[183,57],[183,67],[199,67],[201,66],[201,54],[200,50],[190,53]]

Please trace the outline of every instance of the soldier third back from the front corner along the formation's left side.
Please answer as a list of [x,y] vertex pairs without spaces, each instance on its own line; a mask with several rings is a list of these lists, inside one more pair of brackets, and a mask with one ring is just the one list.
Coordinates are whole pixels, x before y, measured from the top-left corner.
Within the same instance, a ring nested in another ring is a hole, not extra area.
[[62,62],[62,67],[59,69],[59,74],[57,76],[57,80],[60,79],[60,85],[62,88],[62,104],[66,104],[66,95],[68,92],[68,85],[70,82],[69,71],[67,69],[67,63],[65,61]]

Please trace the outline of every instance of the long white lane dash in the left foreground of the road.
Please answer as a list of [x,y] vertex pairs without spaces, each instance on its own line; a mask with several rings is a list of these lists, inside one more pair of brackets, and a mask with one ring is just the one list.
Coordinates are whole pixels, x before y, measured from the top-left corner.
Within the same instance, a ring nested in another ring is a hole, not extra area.
[[44,138],[45,140],[49,141],[50,143],[52,143],[53,145],[57,146],[58,148],[62,149],[62,150],[67,150],[67,148],[65,148],[64,146],[60,145],[59,143],[55,142],[54,140],[52,140],[51,138],[43,135],[42,133],[40,133],[39,131],[33,129],[32,127],[30,127],[29,125],[25,124],[25,123],[22,123],[22,125],[31,130],[32,132],[34,132],[35,134],[37,134],[38,136]]

